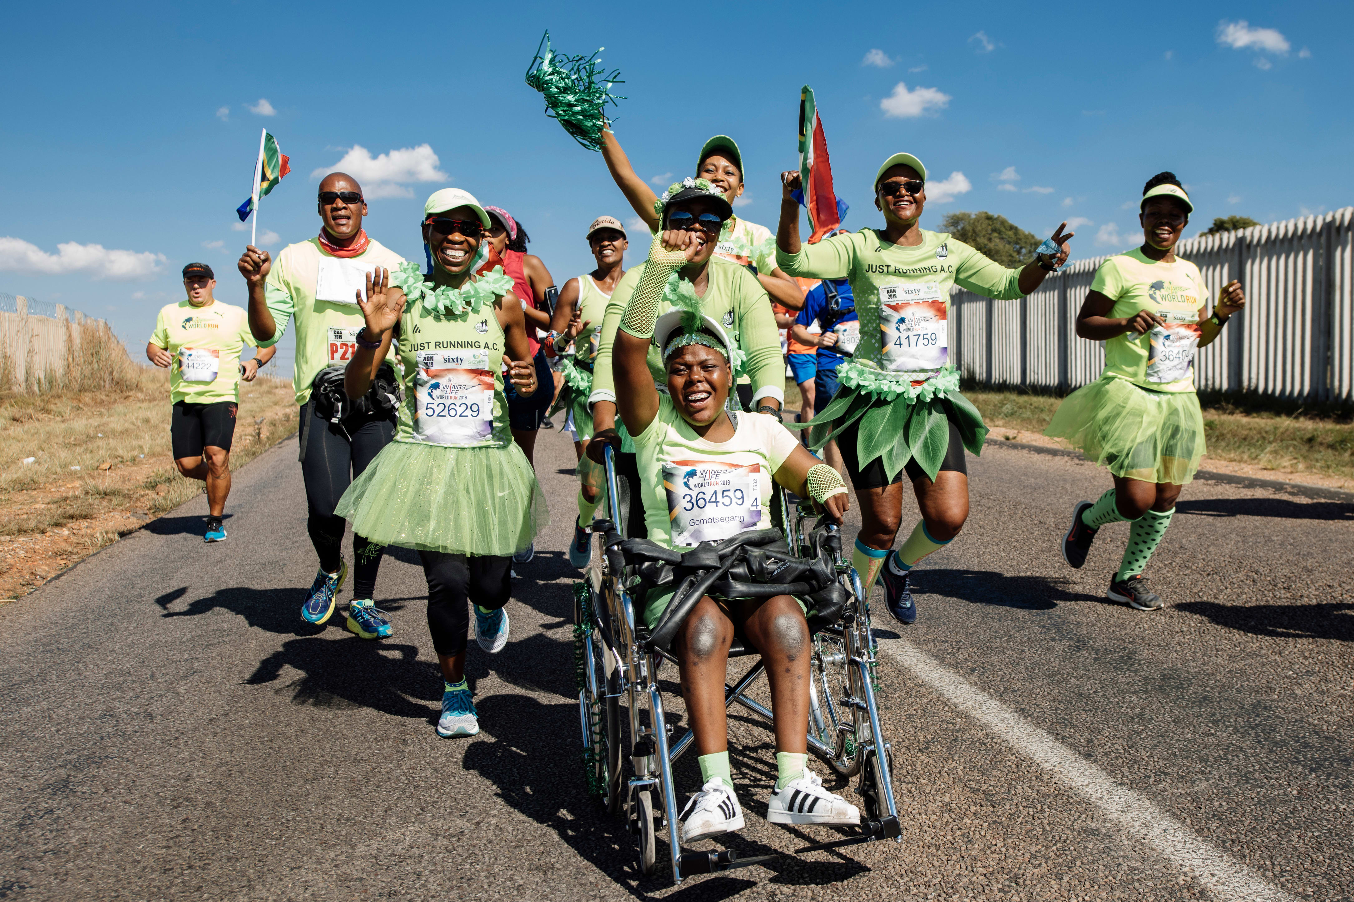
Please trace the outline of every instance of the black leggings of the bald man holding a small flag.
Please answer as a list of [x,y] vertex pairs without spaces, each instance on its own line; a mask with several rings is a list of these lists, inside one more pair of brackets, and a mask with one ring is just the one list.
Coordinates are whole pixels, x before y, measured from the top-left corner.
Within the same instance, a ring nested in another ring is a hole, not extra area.
[[[326,573],[338,569],[343,557],[343,517],[334,517],[338,499],[353,479],[395,434],[390,419],[355,418],[330,423],[314,411],[314,403],[301,406],[301,476],[306,481],[306,531]],[[347,433],[347,434],[345,434]],[[362,536],[352,537],[353,598],[372,598],[382,546]]]

